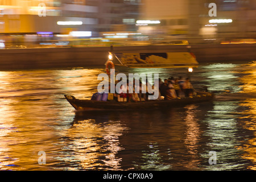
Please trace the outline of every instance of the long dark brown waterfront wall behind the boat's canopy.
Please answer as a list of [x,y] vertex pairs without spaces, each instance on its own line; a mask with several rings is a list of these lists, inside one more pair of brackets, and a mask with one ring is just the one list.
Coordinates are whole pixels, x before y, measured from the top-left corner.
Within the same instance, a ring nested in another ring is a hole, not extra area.
[[[0,49],[0,69],[36,69],[103,66],[110,47],[67,47]],[[228,63],[256,60],[256,44],[192,44],[154,46],[114,46],[121,52],[187,52],[200,63]]]

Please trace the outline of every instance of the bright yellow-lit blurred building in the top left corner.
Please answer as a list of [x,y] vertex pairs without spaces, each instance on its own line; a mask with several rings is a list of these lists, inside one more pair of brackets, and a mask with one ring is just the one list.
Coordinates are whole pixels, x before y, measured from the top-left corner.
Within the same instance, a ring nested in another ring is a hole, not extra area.
[[57,31],[55,22],[61,15],[59,0],[1,0],[0,32],[30,33]]

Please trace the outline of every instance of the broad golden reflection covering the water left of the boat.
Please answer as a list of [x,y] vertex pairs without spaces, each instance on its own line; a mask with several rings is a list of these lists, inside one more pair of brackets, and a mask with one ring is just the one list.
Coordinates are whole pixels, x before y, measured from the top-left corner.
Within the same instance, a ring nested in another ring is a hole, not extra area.
[[[0,72],[0,169],[49,169],[48,165],[38,164],[39,151],[46,152],[47,164],[57,163],[56,154],[61,148],[52,144],[61,133],[57,125],[63,125],[65,115],[73,114],[63,109],[69,104],[59,98],[73,91],[87,96],[94,85],[89,80],[95,81],[97,72],[98,69]],[[56,120],[59,123],[53,122]]]

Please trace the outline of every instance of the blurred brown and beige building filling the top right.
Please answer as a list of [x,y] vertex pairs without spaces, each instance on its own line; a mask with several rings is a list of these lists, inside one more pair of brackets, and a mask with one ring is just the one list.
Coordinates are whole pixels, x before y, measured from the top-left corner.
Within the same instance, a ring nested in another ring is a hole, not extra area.
[[[216,16],[210,16],[213,10],[210,3],[216,4]],[[139,26],[139,31],[159,37],[191,41],[197,38],[255,38],[256,0],[142,0],[140,19],[159,20],[159,24]],[[215,23],[210,23],[211,19]],[[224,23],[222,19],[232,22]]]

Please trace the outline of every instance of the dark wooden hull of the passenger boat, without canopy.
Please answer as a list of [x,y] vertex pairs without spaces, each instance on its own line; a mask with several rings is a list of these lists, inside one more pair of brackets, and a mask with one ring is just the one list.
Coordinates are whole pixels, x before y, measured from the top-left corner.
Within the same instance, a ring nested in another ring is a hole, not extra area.
[[94,100],[80,100],[74,96],[65,95],[67,101],[76,110],[133,110],[133,109],[153,109],[158,107],[175,107],[183,106],[198,102],[211,101],[214,95],[209,92],[197,92],[194,97],[176,98],[173,100],[150,100],[142,102],[117,102],[117,101],[94,101]]

